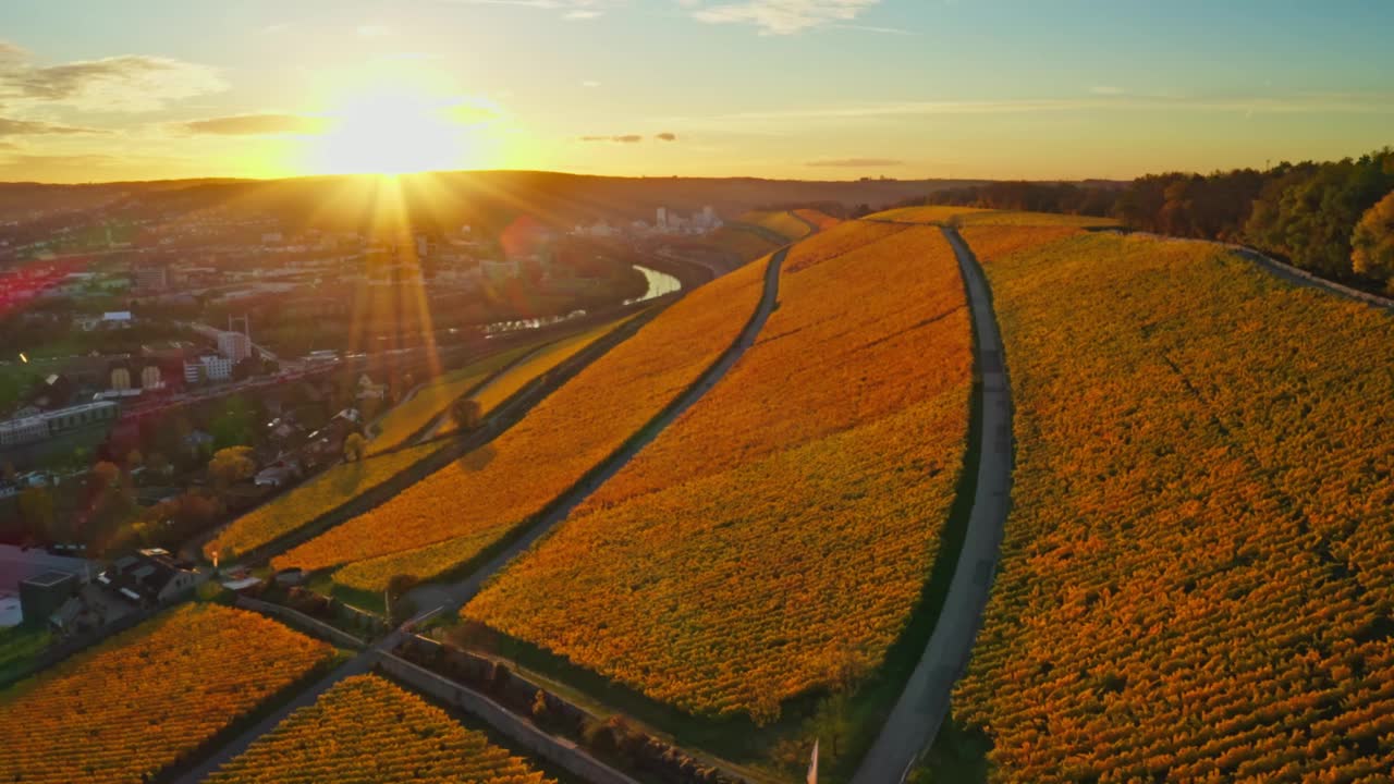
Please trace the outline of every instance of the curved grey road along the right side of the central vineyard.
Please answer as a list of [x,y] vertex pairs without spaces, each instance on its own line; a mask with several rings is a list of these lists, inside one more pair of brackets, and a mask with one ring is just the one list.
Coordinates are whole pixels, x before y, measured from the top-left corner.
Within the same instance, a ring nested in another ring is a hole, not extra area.
[[881,735],[857,767],[852,784],[903,781],[940,730],[949,710],[949,693],[967,667],[983,608],[997,571],[997,552],[1011,508],[1012,398],[1002,360],[1002,338],[993,312],[993,296],[973,251],[953,229],[944,229],[953,246],[976,332],[976,364],[983,377],[983,425],[977,459],[977,492],[969,515],[963,550],[953,582],[924,656],[905,685]]

